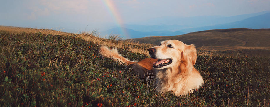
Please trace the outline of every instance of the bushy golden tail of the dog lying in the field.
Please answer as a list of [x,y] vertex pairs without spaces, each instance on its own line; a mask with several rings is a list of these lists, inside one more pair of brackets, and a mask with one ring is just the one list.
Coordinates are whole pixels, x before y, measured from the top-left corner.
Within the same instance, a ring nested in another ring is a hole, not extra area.
[[109,49],[107,46],[101,46],[98,52],[102,57],[112,58],[114,61],[119,61],[120,63],[126,63],[126,65],[136,63],[136,62],[129,61],[129,59],[124,58],[122,55],[118,54],[116,48]]

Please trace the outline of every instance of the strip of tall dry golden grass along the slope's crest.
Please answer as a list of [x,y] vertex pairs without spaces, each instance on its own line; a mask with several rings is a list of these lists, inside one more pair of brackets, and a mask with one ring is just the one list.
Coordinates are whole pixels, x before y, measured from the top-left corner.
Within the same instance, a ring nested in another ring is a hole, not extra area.
[[99,45],[106,45],[108,47],[117,47],[117,48],[128,47],[129,51],[132,51],[134,53],[146,54],[146,55],[148,55],[147,50],[153,46],[151,44],[140,44],[138,42],[122,41],[122,38],[117,35],[110,35],[108,39],[100,38],[99,35],[95,31],[74,34],[74,33],[67,33],[67,32],[62,32],[62,31],[51,30],[51,29],[22,28],[22,27],[12,27],[12,26],[0,26],[0,30],[9,31],[10,33],[41,32],[43,34],[65,35],[65,36],[77,35],[77,37],[81,37],[82,39],[85,39],[86,41],[91,41],[92,43],[97,43]]

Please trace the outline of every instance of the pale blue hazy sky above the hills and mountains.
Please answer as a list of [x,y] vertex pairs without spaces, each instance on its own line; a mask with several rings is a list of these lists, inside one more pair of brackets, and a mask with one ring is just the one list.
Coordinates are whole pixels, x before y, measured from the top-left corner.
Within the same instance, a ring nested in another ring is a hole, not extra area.
[[269,10],[270,0],[1,0],[0,25],[94,30],[158,17],[234,16]]

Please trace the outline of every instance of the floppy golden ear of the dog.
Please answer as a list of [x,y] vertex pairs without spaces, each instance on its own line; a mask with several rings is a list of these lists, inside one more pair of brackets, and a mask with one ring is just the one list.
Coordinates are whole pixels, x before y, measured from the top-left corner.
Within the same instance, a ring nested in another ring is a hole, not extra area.
[[197,52],[195,46],[187,45],[187,47],[182,52],[182,59],[187,63],[194,65],[197,60]]

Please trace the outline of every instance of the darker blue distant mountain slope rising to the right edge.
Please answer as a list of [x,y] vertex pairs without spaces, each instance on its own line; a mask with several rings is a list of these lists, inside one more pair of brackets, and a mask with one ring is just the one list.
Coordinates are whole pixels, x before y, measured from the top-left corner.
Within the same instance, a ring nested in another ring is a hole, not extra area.
[[184,32],[195,32],[195,31],[204,31],[211,29],[228,29],[228,28],[251,28],[251,29],[260,29],[260,28],[270,28],[270,13],[262,14],[259,16],[250,17],[241,21],[236,21],[227,24],[217,24],[214,26],[204,26],[198,28],[188,28],[181,29],[179,31]]

